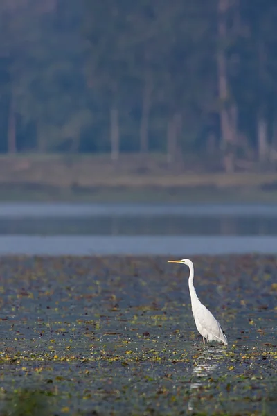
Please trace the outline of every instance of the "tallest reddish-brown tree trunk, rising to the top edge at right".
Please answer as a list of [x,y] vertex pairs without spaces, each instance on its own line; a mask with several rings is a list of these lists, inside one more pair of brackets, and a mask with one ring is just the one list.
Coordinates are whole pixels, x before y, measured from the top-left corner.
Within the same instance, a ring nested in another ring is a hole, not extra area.
[[[224,44],[227,36],[226,12],[229,0],[218,0],[218,35]],[[220,97],[220,127],[224,148],[224,168],[226,172],[234,171],[234,147],[236,135],[236,107],[229,107],[229,85],[227,78],[227,62],[224,47],[217,51],[218,93]]]

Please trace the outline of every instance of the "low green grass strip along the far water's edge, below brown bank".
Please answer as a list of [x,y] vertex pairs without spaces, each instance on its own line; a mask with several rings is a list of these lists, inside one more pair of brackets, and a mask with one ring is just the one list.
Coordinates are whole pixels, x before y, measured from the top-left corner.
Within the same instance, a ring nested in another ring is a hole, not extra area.
[[255,187],[93,187],[71,189],[24,187],[0,184],[0,202],[91,202],[91,203],[265,203],[276,204],[277,191]]

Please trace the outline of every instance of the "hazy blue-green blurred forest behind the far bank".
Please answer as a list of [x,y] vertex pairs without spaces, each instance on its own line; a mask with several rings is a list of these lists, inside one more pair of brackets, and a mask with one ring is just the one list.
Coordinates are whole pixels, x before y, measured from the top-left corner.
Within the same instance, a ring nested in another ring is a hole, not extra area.
[[1,153],[277,159],[276,0],[1,0]]

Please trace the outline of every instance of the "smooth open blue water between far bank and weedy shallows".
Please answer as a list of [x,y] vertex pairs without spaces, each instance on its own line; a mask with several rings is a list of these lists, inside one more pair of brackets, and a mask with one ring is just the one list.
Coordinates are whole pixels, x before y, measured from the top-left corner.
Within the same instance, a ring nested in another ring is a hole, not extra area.
[[277,252],[277,205],[0,204],[0,254]]

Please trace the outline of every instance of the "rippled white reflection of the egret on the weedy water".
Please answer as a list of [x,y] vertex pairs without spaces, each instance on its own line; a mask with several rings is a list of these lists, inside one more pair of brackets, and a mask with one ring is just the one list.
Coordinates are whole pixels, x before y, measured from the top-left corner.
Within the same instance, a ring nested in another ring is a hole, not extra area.
[[226,347],[221,345],[206,345],[203,351],[195,358],[193,372],[190,381],[190,398],[188,400],[188,410],[195,410],[195,404],[199,400],[197,392],[199,388],[204,387],[207,383],[207,377],[210,377],[218,367],[222,353]]

